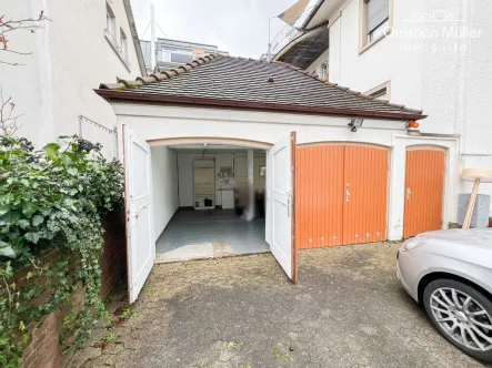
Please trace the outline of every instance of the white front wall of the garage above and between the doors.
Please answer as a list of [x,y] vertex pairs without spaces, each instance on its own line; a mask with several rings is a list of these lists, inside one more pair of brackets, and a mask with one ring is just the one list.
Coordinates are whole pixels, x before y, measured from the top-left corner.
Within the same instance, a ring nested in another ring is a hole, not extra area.
[[[298,133],[298,144],[313,142],[361,142],[391,147],[390,204],[388,233],[390,239],[401,239],[404,213],[405,149],[415,144],[448,149],[446,201],[444,226],[455,222],[460,181],[458,139],[411,137],[405,123],[364,120],[362,129],[351,132],[349,117],[314,116],[271,112],[247,112],[213,109],[170,108],[157,105],[113,104],[119,123],[129,124],[145,140],[194,137],[230,137],[273,144]],[[180,193],[181,194],[181,193]]]

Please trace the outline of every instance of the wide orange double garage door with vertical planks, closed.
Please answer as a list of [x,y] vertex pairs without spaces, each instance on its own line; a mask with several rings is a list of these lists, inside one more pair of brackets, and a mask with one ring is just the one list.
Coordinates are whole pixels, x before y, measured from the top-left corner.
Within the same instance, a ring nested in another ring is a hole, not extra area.
[[298,149],[299,249],[386,238],[388,160],[373,146]]

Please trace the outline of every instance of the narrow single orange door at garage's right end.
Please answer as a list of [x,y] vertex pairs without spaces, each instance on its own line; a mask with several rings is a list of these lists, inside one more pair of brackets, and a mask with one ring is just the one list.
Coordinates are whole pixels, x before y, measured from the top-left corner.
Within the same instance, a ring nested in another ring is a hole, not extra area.
[[442,228],[444,171],[444,150],[418,147],[406,151],[405,238]]

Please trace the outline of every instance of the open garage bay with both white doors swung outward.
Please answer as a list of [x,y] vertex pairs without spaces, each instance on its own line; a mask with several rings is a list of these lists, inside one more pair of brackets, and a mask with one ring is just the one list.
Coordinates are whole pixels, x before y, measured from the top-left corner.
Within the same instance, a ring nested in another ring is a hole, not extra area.
[[[135,131],[123,124],[121,143],[125,178],[130,303],[137,299],[155,262],[270,251],[287,276],[297,282],[293,206],[295,132],[285,134],[268,151],[258,146],[259,142],[252,147],[251,144],[234,144],[239,143],[235,140],[191,143],[161,141],[160,144],[153,141],[150,146]],[[181,150],[191,157],[180,161]],[[244,157],[244,152],[245,165],[241,165],[239,162]],[[237,192],[240,191],[244,176],[248,193],[241,204]],[[227,191],[232,192],[232,198],[225,198],[220,193]],[[224,208],[227,206],[232,208]],[[177,211],[182,207],[200,214],[194,217],[182,215],[174,231],[165,234]],[[235,217],[223,212],[219,214],[217,209],[231,209]],[[248,222],[243,224],[244,228],[240,227],[238,216]],[[254,219],[261,217],[264,217],[263,225],[259,223],[250,226]],[[203,219],[208,221],[204,226],[193,226]],[[168,241],[163,244],[159,259],[155,244],[159,246],[161,237]],[[243,242],[244,238],[251,242]]]

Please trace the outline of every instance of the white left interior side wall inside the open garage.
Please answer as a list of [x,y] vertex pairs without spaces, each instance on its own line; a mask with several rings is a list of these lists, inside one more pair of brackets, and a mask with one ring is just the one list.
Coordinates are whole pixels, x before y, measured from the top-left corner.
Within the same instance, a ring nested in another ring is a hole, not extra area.
[[178,157],[165,146],[151,147],[155,239],[179,207]]

